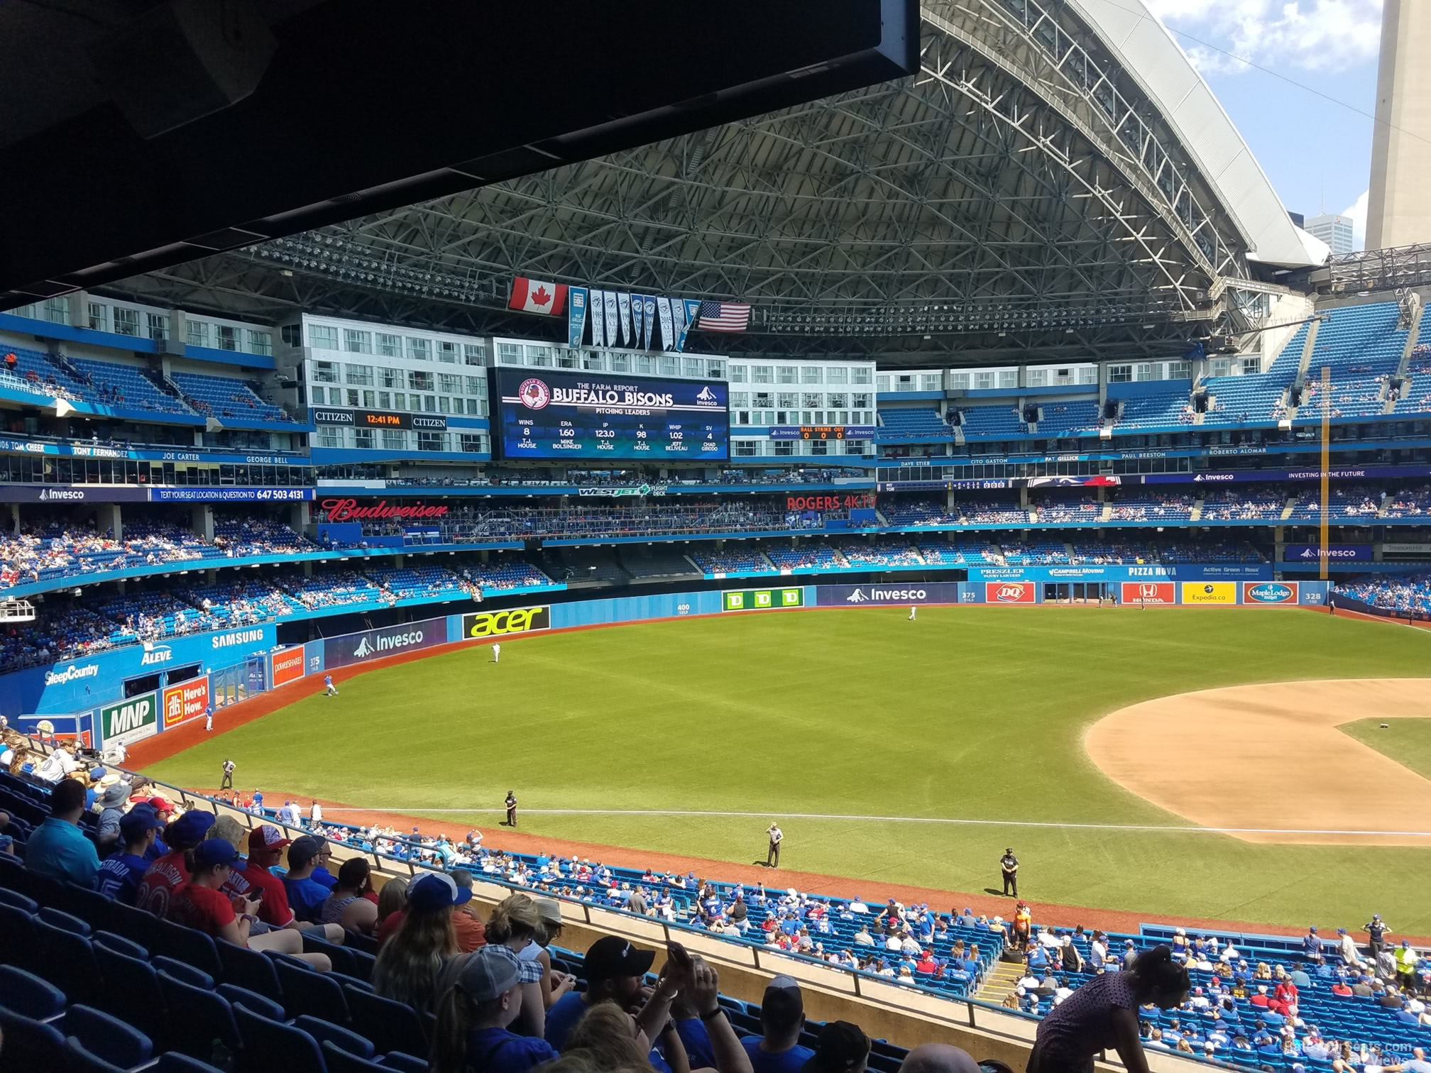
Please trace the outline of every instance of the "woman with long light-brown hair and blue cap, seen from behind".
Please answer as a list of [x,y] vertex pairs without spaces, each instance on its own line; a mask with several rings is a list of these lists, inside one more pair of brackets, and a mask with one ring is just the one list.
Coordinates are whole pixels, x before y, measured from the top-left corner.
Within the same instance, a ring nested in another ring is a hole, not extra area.
[[452,908],[471,897],[471,890],[458,890],[445,873],[429,871],[412,880],[402,923],[378,951],[373,990],[384,999],[426,1011],[438,973],[458,953]]

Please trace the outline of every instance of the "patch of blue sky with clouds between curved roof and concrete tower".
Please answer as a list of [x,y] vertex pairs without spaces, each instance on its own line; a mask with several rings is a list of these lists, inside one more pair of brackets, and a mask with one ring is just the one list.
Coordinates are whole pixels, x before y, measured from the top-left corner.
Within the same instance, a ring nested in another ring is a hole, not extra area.
[[1307,216],[1349,210],[1359,248],[1371,173],[1381,0],[1146,3],[1208,79],[1282,203]]

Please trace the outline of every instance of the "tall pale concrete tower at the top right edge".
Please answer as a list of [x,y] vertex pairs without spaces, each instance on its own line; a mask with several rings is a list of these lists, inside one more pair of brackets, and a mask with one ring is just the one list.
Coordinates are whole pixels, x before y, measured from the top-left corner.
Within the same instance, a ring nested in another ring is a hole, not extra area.
[[1431,3],[1385,0],[1367,249],[1431,242]]

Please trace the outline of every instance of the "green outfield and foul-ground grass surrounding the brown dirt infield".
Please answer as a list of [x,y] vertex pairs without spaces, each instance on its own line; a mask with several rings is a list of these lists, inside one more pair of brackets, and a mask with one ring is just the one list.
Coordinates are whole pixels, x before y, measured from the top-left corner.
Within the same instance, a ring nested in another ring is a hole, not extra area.
[[[1431,634],[1281,611],[929,608],[907,622],[902,608],[866,608],[552,634],[489,658],[474,647],[371,671],[331,700],[315,681],[315,695],[150,774],[216,785],[232,755],[248,790],[419,815],[497,810],[508,787],[525,810],[758,813],[522,817],[524,833],[731,861],[764,860],[768,818],[793,813],[1185,824],[1093,767],[1080,744],[1092,721],[1216,685],[1424,677]],[[1216,764],[1218,743],[1175,763]],[[495,823],[491,811],[442,818]],[[1431,850],[1002,823],[781,825],[790,868],[976,891],[995,886],[1012,844],[1037,900],[1292,926],[1379,911],[1402,933],[1431,931],[1420,878]]]

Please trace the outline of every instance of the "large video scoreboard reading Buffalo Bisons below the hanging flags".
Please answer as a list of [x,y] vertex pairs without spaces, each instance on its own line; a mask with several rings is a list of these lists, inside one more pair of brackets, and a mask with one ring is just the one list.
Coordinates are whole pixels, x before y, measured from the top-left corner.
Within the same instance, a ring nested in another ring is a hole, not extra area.
[[494,372],[504,458],[730,458],[720,381],[667,381],[555,369]]

